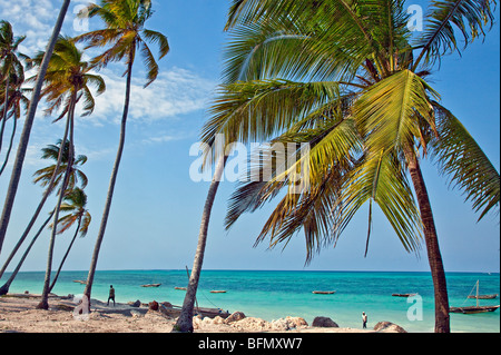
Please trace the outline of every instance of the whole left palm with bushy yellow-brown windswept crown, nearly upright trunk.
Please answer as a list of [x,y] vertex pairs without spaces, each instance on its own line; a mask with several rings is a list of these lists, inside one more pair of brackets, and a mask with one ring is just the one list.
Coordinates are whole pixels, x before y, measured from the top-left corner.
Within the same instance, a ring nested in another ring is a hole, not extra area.
[[[41,63],[45,53],[39,53],[35,57],[33,62],[36,65]],[[104,79],[92,73],[94,67],[85,61],[84,51],[79,50],[75,42],[63,36],[58,38],[58,41],[55,46],[55,50],[52,53],[52,58],[49,62],[48,70],[46,72],[46,87],[43,88],[43,96],[46,100],[50,102],[49,108],[47,109],[47,114],[52,114],[55,110],[61,108],[60,116],[56,119],[59,120],[62,117],[67,117],[67,125],[65,135],[68,135],[68,162],[65,170],[65,176],[62,178],[62,184],[58,194],[58,203],[55,209],[53,216],[53,227],[52,227],[52,236],[49,244],[49,255],[47,262],[47,272],[46,272],[46,282],[43,285],[42,292],[42,300],[38,305],[39,308],[47,309],[48,308],[48,295],[49,295],[49,282],[50,282],[50,272],[51,272],[51,263],[52,263],[52,252],[53,252],[53,243],[56,240],[56,230],[57,224],[59,220],[59,209],[65,197],[65,191],[68,188],[68,185],[71,185],[70,177],[72,176],[72,167],[75,165],[75,144],[73,144],[73,126],[75,126],[75,110],[77,103],[84,99],[84,114],[82,116],[88,116],[94,111],[95,100],[92,97],[92,92],[90,91],[89,86],[95,86],[97,88],[97,93],[100,95],[106,90],[106,85]],[[66,136],[62,138],[62,141],[66,142]],[[65,146],[65,145],[62,145]],[[62,159],[62,150],[60,149],[60,156]],[[50,171],[47,176],[51,176],[51,180],[48,184],[47,191],[45,196],[52,190],[52,186],[55,184],[56,177],[59,172],[59,165],[52,170],[52,175]],[[41,176],[47,171],[42,171]],[[76,176],[76,175],[73,175]]]

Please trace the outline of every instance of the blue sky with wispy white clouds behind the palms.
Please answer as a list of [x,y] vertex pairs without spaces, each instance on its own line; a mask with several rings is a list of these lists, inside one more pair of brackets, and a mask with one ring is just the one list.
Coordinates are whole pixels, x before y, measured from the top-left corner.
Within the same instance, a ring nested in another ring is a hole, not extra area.
[[[56,0],[0,0],[0,17],[11,21],[17,33],[28,36],[22,50],[32,55],[43,49],[60,3]],[[87,1],[72,1],[65,34],[79,33],[75,30],[73,11],[85,3]],[[126,148],[98,269],[191,267],[208,183],[190,180],[189,166],[195,158],[188,151],[198,141],[199,129],[207,118],[205,110],[219,80],[228,3],[226,0],[154,1],[156,13],[148,27],[168,36],[171,51],[159,62],[160,76],[148,89],[143,89],[145,72],[140,61],[136,63]],[[499,9],[495,16],[498,20]],[[90,20],[90,30],[98,27],[98,20]],[[499,43],[497,23],[484,42],[474,42],[462,57],[444,58],[432,80],[443,105],[462,120],[498,171]],[[89,157],[85,171],[89,177],[87,194],[92,224],[87,237],[77,240],[66,269],[85,270],[90,265],[118,144],[125,85],[122,71],[121,65],[101,71],[107,79],[107,92],[97,99],[95,114],[76,124],[77,151]],[[39,159],[40,149],[62,135],[62,127],[50,122],[50,118],[38,115],[0,263],[19,238],[41,197],[41,188],[31,184],[33,171],[45,166]],[[491,214],[477,223],[478,215],[472,211],[471,204],[464,203],[458,190],[448,188],[446,180],[438,175],[433,165],[424,162],[423,170],[445,269],[499,272],[499,215]],[[0,177],[2,201],[9,175],[10,171],[6,171]],[[205,268],[429,270],[424,245],[420,256],[407,254],[379,211],[375,213],[367,257],[364,257],[366,210],[355,216],[336,248],[324,249],[306,267],[302,234],[284,250],[281,247],[268,250],[265,244],[254,248],[255,237],[271,209],[245,215],[225,231],[223,220],[233,188],[234,184],[223,183],[217,195]],[[55,263],[65,253],[70,235],[58,237]],[[45,269],[48,237],[47,230],[23,270]]]

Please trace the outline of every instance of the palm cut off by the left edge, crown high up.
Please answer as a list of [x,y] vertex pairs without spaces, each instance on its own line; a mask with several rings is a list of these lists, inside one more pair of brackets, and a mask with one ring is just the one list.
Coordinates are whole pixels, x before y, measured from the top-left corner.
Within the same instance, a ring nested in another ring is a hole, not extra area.
[[[7,122],[8,107],[9,107],[9,91],[11,85],[11,76],[16,75],[23,81],[24,67],[21,60],[28,59],[27,56],[18,51],[19,45],[26,39],[26,36],[14,37],[12,26],[8,21],[0,21],[0,70],[1,78],[4,79],[3,96],[3,110],[1,116],[0,126],[0,151],[2,150],[3,130]],[[2,80],[3,81],[3,80]],[[17,82],[19,83],[19,82]]]

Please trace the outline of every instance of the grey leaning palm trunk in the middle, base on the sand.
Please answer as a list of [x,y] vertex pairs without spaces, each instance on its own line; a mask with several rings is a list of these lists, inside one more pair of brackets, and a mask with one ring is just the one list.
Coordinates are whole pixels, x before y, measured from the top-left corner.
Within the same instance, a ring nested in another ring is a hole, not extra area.
[[204,263],[205,246],[207,244],[207,230],[210,220],[210,211],[213,209],[214,199],[216,198],[217,188],[223,176],[223,170],[226,164],[226,156],[222,156],[217,162],[214,171],[213,181],[210,183],[205,201],[204,211],[202,214],[200,231],[198,234],[198,245],[193,263],[191,276],[189,277],[188,287],[186,290],[185,300],[179,318],[176,322],[174,329],[183,333],[193,333],[193,309],[197,296],[198,280],[200,279],[202,266]]

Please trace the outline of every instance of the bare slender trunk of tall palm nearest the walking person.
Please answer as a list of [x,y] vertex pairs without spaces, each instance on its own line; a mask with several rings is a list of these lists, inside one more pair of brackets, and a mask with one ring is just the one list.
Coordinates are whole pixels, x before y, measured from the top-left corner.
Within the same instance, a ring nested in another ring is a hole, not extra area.
[[114,169],[111,171],[111,178],[110,178],[109,187],[108,187],[108,196],[106,197],[105,210],[102,213],[101,224],[99,226],[99,233],[98,233],[98,236],[96,238],[96,245],[95,245],[94,253],[92,253],[92,259],[90,262],[89,274],[87,276],[87,285],[86,285],[86,288],[84,290],[84,295],[86,295],[87,299],[88,299],[89,310],[90,310],[90,294],[92,292],[94,276],[96,274],[96,267],[97,267],[97,262],[98,262],[98,257],[99,257],[99,252],[100,252],[100,248],[101,248],[102,239],[105,237],[106,226],[108,224],[109,210],[111,208],[111,201],[112,201],[112,198],[114,198],[115,184],[117,181],[118,169],[120,167],[120,161],[121,161],[121,155],[124,152],[126,128],[127,128],[127,117],[129,115],[130,85],[131,85],[131,79],[132,79],[132,65],[134,65],[134,57],[130,56],[129,57],[129,62],[128,62],[127,82],[126,82],[126,96],[125,96],[125,103],[124,103],[124,114],[122,114],[122,117],[121,117],[120,138],[119,138],[119,142],[118,142],[117,157],[115,159]]

